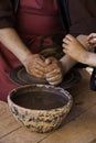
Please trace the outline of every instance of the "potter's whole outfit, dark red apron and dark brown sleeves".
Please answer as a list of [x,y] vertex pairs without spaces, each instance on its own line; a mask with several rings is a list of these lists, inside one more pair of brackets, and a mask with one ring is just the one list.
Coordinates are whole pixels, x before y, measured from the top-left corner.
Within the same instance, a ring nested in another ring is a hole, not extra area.
[[[76,36],[96,32],[96,0],[68,0],[68,12],[71,34]],[[64,34],[56,0],[20,0],[17,15],[11,0],[1,0],[0,29],[4,28],[17,29],[32,53],[41,51],[42,36],[61,35],[62,31]],[[47,46],[52,44],[51,38],[45,38],[43,44]],[[17,57],[0,44],[1,100],[7,100],[8,92],[18,87],[10,80],[9,73],[19,65],[21,63]]]

